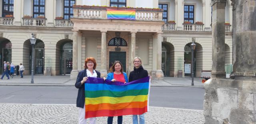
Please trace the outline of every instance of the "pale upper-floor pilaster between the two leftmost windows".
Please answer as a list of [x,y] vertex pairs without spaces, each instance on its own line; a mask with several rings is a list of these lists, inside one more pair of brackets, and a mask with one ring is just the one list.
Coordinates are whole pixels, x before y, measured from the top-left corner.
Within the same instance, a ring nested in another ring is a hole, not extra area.
[[24,8],[24,0],[14,0],[14,11],[13,11],[13,17],[14,17],[14,25],[15,26],[21,26],[22,25],[22,18],[23,18],[23,8]]

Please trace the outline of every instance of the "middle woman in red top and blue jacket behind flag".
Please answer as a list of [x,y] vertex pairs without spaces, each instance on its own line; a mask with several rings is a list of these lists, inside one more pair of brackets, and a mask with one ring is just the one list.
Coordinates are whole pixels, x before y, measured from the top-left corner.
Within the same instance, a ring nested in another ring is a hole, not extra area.
[[[111,80],[112,82],[128,82],[128,78],[125,72],[123,72],[123,66],[121,62],[115,61],[114,64],[110,68],[110,73],[108,73],[107,78],[103,78],[104,80]],[[108,124],[113,124],[113,116],[108,117]],[[122,124],[123,116],[117,117],[117,124]]]

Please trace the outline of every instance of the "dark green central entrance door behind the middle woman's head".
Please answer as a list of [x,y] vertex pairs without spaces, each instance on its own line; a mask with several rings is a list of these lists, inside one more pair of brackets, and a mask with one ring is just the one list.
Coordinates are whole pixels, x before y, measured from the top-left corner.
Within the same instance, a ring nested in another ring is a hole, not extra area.
[[109,68],[115,61],[120,61],[123,65],[123,71],[126,72],[126,52],[109,52]]

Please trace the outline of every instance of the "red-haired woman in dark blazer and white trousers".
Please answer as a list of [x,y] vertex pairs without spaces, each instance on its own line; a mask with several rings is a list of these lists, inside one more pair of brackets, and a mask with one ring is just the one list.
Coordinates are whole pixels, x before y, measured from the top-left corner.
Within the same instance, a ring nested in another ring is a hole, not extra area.
[[[75,87],[78,88],[76,107],[79,107],[78,124],[86,124],[84,82],[88,79],[87,77],[100,78],[100,72],[95,70],[96,66],[96,60],[93,57],[86,58],[84,61],[84,70],[80,71],[76,78]],[[90,124],[95,123],[96,118],[90,118]]]

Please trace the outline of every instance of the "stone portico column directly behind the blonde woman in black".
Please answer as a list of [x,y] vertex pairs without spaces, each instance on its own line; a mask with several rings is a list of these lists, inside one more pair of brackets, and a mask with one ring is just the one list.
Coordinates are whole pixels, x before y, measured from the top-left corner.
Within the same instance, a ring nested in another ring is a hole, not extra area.
[[136,52],[136,32],[131,32],[131,49],[130,49],[130,71],[133,71],[133,59],[135,58]]

